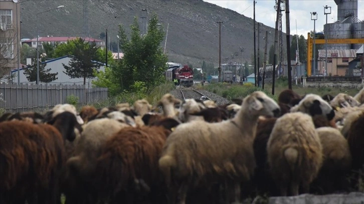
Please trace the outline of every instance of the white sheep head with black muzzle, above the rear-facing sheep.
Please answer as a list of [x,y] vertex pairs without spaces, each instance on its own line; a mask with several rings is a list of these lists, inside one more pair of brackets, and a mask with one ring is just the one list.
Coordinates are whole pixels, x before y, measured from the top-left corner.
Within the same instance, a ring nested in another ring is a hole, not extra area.
[[314,115],[325,115],[328,120],[335,116],[335,112],[327,101],[317,94],[307,94],[297,105],[290,109],[290,112],[304,112]]

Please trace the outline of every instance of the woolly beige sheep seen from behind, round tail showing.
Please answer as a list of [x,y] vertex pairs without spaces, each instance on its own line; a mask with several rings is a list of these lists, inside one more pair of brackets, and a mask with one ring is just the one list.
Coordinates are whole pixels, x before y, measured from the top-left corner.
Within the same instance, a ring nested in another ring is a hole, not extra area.
[[290,112],[278,118],[268,139],[267,153],[280,194],[298,195],[299,186],[307,193],[322,164],[322,146],[312,117]]

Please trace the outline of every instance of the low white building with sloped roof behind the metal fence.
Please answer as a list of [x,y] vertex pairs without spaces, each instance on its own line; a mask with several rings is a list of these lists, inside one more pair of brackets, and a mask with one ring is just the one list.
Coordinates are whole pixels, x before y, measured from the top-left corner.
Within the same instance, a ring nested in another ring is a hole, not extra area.
[[[63,67],[63,64],[66,64],[66,65],[69,65],[69,62],[71,61],[71,57],[70,56],[62,56],[62,57],[58,57],[58,58],[55,58],[55,59],[51,59],[51,60],[48,60],[48,61],[44,61],[44,62],[41,62],[41,64],[44,64],[46,63],[46,66],[45,66],[45,69],[49,69],[51,68],[50,72],[51,73],[56,73],[58,72],[57,74],[57,79],[50,82],[50,83],[62,83],[62,84],[73,84],[73,83],[76,83],[76,84],[83,84],[83,78],[71,78],[69,75],[67,75],[64,71],[65,68]],[[101,63],[101,62],[99,62]],[[23,68],[20,68],[20,82],[21,83],[35,83],[35,82],[30,82],[28,81],[26,75],[24,74],[24,69],[26,69],[27,67],[23,67]],[[102,63],[102,66],[98,69],[100,71],[105,71],[105,64]],[[17,74],[18,73],[18,70],[15,69],[15,70],[12,70],[12,74]],[[86,78],[86,84],[91,87],[92,86],[92,80],[96,80],[96,78]],[[40,82],[42,83],[42,82]]]

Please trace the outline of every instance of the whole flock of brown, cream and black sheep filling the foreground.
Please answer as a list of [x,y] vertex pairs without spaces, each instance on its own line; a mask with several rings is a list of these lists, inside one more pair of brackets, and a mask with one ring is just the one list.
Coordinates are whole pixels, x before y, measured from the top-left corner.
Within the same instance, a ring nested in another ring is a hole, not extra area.
[[5,113],[0,203],[56,204],[61,194],[65,203],[239,203],[347,192],[363,179],[363,132],[364,88],[354,97],[287,89],[278,103],[261,91],[225,105],[165,94],[155,106],[141,99]]

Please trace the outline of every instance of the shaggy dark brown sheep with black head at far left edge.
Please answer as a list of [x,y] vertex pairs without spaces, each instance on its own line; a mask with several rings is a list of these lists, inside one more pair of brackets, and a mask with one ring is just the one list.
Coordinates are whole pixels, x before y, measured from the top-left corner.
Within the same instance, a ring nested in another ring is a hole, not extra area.
[[74,139],[76,117],[62,112],[49,121],[4,121],[0,125],[0,200],[56,203],[65,161],[64,140]]

